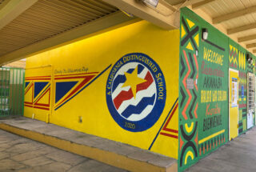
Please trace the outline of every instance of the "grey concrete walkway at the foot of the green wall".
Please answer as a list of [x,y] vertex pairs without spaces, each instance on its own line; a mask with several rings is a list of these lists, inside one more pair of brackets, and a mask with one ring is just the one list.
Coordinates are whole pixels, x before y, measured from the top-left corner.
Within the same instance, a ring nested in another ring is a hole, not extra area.
[[234,138],[186,172],[256,171],[256,127]]

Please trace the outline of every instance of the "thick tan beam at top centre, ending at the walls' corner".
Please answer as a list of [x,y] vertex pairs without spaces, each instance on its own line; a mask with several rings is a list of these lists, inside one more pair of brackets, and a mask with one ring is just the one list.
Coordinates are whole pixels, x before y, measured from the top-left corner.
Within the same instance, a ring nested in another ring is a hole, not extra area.
[[137,0],[103,0],[112,6],[116,6],[121,10],[125,10],[130,14],[134,14],[138,18],[142,18],[148,22],[152,22],[156,26],[165,30],[179,28],[179,15],[174,6],[166,5],[166,2],[159,1],[157,8],[151,8]]

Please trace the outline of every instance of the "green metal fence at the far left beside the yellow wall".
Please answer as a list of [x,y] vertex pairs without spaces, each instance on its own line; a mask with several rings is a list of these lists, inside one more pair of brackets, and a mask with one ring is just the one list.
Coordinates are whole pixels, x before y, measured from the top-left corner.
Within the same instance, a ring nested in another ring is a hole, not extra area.
[[0,117],[23,115],[24,77],[24,69],[0,68]]

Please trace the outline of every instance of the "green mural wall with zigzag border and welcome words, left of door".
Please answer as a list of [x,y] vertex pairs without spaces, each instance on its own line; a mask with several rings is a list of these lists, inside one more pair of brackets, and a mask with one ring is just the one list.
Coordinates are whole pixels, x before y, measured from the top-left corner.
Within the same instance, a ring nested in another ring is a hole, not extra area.
[[181,12],[179,171],[228,138],[228,38],[189,9]]

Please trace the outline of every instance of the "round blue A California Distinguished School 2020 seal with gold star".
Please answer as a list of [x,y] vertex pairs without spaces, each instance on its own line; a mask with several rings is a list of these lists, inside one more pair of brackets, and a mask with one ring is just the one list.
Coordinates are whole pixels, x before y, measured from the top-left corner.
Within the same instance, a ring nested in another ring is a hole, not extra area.
[[149,129],[166,103],[162,70],[146,54],[126,54],[112,67],[106,82],[106,103],[114,121],[125,130]]

